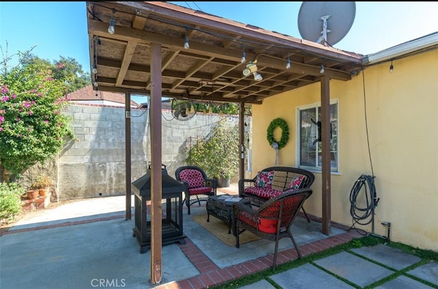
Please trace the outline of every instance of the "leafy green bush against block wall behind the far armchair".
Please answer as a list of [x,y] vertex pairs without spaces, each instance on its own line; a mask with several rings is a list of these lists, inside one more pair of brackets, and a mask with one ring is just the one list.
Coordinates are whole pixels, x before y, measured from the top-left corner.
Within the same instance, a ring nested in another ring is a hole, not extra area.
[[203,168],[210,178],[218,179],[218,187],[229,187],[230,178],[239,169],[239,156],[238,126],[221,121],[207,137],[197,139],[188,148],[186,162]]

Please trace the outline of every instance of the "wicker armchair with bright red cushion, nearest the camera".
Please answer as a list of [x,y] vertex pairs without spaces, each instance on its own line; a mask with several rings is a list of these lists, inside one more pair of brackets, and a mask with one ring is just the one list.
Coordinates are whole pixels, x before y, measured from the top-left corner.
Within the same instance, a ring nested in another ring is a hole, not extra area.
[[302,258],[290,227],[302,204],[311,193],[312,189],[309,188],[285,191],[281,195],[269,199],[257,209],[242,203],[233,204],[235,247],[240,247],[239,234],[248,230],[261,238],[275,241],[273,270],[276,267],[276,256],[281,238],[289,237],[298,257]]

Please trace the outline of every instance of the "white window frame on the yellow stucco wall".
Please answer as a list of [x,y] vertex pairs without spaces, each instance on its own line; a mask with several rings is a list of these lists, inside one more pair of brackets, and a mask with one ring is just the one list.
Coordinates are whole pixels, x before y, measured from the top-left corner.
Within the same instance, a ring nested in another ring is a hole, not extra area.
[[[330,105],[336,105],[336,111],[337,111],[337,133],[336,133],[336,167],[331,167],[331,174],[339,174],[339,99],[331,99]],[[302,105],[300,107],[296,107],[296,167],[300,167],[302,169],[307,169],[309,171],[315,171],[315,172],[322,172],[322,167],[318,166],[318,163],[314,166],[306,166],[306,165],[300,165],[301,163],[301,154],[300,154],[300,146],[301,146],[301,123],[300,123],[300,111],[305,109],[316,109],[318,112],[318,108],[321,107],[321,102],[313,103],[310,105]],[[318,113],[317,113],[318,114]],[[315,120],[318,122],[318,120]],[[312,124],[313,125],[313,124]],[[315,137],[318,137],[318,129],[316,129],[317,135]],[[317,146],[317,145],[315,145]],[[318,152],[316,151],[316,155],[318,156]]]

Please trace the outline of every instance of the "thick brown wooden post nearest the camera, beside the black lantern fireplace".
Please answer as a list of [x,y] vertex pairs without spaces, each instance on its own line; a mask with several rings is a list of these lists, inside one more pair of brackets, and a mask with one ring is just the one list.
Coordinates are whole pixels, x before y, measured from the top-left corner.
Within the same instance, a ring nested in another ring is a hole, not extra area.
[[162,281],[162,46],[151,44],[151,284]]

